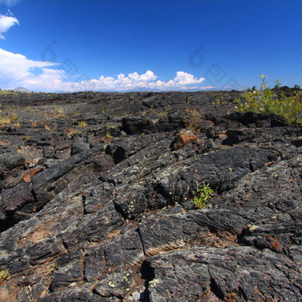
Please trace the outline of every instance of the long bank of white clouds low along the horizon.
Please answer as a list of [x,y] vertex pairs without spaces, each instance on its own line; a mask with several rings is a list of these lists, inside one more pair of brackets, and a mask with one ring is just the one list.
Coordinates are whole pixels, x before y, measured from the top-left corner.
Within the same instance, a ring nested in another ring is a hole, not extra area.
[[[202,83],[204,78],[196,78],[184,71],[178,71],[176,76],[168,81],[157,79],[155,73],[147,70],[139,75],[133,72],[128,76],[100,76],[99,79],[89,79],[79,72],[68,77],[68,71],[60,68],[59,63],[28,60],[24,55],[4,51],[0,48],[0,83],[2,89],[25,87],[33,91],[131,91],[131,90],[187,90],[196,89],[196,83]],[[79,78],[79,80],[75,80]],[[84,79],[84,80],[82,80]],[[191,85],[191,86],[190,86]],[[194,85],[194,86],[193,86]]]

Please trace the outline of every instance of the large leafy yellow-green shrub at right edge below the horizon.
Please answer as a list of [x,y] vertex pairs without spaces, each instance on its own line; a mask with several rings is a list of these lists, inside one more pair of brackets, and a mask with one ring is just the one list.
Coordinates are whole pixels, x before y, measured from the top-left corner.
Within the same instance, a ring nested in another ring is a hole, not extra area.
[[[261,74],[262,83],[259,89],[245,91],[242,99],[235,99],[240,112],[253,111],[283,116],[288,123],[302,124],[302,92],[296,91],[286,97],[283,92],[278,96],[267,87],[266,76]],[[280,81],[277,81],[280,86]]]

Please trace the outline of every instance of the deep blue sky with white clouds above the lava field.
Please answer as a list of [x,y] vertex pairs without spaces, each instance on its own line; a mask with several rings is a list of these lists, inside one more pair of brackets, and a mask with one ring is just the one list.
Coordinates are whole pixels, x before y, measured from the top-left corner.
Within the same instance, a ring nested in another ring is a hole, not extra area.
[[300,0],[0,0],[0,88],[302,86]]

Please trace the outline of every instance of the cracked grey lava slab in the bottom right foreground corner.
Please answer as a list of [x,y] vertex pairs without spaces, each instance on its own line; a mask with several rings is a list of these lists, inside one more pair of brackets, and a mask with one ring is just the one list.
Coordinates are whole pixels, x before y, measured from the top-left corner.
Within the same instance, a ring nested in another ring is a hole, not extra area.
[[[147,258],[150,301],[194,301],[212,292],[220,300],[300,298],[298,267],[290,258],[250,247],[195,248]],[[289,273],[289,270],[291,274]],[[179,286],[181,284],[181,286]]]

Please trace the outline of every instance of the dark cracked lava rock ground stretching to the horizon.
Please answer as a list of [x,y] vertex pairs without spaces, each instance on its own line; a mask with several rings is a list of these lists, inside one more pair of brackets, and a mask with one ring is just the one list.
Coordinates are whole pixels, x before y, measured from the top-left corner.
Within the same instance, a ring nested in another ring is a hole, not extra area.
[[2,96],[0,300],[301,300],[301,127],[236,96]]

